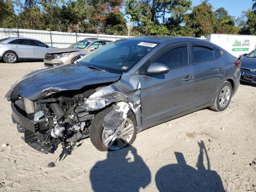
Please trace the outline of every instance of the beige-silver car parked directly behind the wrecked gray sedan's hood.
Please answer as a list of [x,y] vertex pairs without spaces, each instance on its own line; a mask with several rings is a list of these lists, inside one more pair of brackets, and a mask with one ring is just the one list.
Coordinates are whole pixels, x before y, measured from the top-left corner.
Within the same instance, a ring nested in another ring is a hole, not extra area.
[[78,55],[86,55],[112,40],[102,40],[97,38],[88,38],[78,41],[68,48],[49,50],[44,57],[44,66],[53,67],[62,64],[74,63],[79,59]]

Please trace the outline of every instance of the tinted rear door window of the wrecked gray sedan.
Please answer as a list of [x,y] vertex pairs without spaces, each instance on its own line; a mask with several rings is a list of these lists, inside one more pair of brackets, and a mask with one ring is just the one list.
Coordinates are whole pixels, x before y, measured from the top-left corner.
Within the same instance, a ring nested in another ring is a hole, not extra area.
[[200,63],[214,60],[213,50],[204,46],[192,46],[194,61],[193,63]]

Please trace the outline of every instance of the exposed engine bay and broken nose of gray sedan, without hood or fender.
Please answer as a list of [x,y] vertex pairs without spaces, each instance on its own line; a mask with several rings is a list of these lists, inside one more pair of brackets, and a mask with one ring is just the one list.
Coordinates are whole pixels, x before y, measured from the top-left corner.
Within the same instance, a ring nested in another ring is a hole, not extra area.
[[12,100],[12,120],[24,140],[34,149],[54,152],[58,144],[66,146],[89,136],[89,126],[95,112],[84,109],[84,101],[96,90],[82,94],[62,94],[33,102],[20,97]]

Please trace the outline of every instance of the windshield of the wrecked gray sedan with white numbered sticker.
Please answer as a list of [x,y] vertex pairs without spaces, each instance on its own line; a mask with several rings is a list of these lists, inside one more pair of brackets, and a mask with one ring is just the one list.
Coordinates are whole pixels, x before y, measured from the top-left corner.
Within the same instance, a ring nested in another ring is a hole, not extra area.
[[141,40],[118,40],[95,50],[78,64],[95,66],[108,72],[122,74],[128,72],[155,46],[157,46],[156,43]]

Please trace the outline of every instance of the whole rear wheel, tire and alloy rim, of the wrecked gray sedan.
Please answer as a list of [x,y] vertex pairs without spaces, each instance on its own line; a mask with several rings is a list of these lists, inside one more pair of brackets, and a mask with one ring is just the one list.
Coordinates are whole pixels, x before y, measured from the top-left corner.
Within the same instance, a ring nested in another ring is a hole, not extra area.
[[230,82],[225,81],[224,84],[220,87],[218,94],[214,100],[214,105],[210,108],[214,111],[223,111],[230,104],[232,98],[233,88]]

